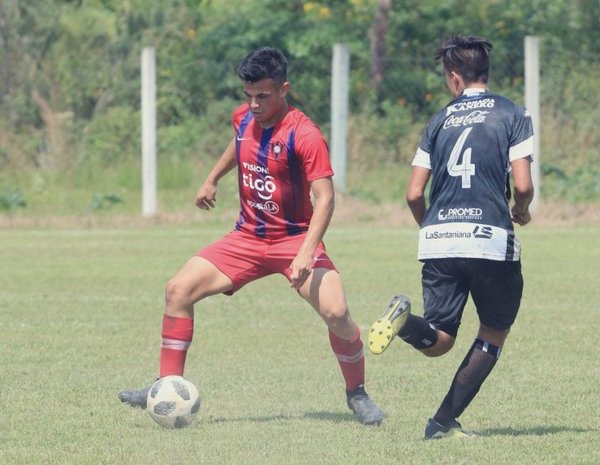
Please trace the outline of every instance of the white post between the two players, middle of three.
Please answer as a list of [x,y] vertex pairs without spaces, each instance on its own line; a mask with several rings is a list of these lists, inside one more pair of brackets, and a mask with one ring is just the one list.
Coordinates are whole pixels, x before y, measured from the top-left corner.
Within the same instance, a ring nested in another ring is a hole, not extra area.
[[346,44],[333,46],[331,67],[331,165],[335,173],[333,183],[337,190],[345,192],[350,92],[350,52]]

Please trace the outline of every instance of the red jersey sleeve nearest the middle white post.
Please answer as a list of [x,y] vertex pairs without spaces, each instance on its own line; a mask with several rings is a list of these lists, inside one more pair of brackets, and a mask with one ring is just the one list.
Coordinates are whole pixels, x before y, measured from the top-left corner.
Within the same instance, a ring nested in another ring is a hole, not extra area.
[[295,144],[296,155],[302,161],[308,182],[333,176],[329,147],[318,126],[305,122],[297,128]]

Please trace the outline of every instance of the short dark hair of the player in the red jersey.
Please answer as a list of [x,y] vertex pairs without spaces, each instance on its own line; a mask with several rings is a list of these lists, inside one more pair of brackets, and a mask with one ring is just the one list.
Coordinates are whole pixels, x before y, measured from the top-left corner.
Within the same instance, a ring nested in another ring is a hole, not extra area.
[[271,78],[282,84],[287,81],[287,59],[280,50],[262,47],[250,52],[238,68],[238,76],[244,82],[258,82]]

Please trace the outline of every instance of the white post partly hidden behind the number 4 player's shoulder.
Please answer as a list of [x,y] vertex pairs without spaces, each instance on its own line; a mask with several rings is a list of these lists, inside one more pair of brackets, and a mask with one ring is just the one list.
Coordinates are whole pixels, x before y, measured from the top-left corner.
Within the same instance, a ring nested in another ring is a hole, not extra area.
[[535,134],[533,146],[533,163],[531,164],[531,177],[535,195],[529,209],[535,212],[540,199],[540,47],[535,36],[525,37],[525,106],[531,114],[533,132]]

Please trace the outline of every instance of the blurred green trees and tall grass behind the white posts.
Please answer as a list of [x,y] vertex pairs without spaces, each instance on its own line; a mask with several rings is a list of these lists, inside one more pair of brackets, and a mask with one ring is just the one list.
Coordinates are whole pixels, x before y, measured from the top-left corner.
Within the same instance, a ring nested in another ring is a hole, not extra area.
[[[0,217],[139,214],[140,54],[157,60],[158,209],[188,214],[232,136],[236,67],[281,48],[291,101],[330,131],[332,47],[350,50],[346,195],[403,204],[428,118],[450,96],[449,34],[493,44],[490,88],[524,104],[539,38],[541,201],[600,206],[598,0],[1,0]],[[234,177],[232,177],[234,178]],[[235,179],[221,197],[233,199]]]

